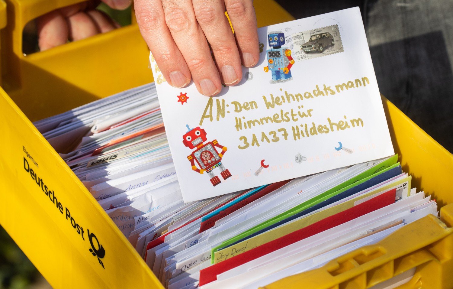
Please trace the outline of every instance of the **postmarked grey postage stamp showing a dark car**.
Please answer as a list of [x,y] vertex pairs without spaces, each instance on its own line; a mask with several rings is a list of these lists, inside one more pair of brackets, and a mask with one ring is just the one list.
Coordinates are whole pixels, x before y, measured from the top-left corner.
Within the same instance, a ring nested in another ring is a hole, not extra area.
[[338,24],[296,32],[285,40],[296,61],[343,52]]

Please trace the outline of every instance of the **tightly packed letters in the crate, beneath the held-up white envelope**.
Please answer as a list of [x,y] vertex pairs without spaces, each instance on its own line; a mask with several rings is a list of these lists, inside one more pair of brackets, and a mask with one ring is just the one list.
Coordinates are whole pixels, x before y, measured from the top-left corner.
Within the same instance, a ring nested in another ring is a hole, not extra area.
[[257,288],[437,215],[397,156],[184,203],[154,84],[35,126],[77,139],[61,156],[170,289]]

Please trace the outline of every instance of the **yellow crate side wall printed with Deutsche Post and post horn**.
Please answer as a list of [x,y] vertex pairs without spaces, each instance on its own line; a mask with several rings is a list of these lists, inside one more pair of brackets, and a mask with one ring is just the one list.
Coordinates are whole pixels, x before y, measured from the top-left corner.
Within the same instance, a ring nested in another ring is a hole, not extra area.
[[0,223],[48,282],[54,288],[160,288],[129,241],[1,88],[0,108]]

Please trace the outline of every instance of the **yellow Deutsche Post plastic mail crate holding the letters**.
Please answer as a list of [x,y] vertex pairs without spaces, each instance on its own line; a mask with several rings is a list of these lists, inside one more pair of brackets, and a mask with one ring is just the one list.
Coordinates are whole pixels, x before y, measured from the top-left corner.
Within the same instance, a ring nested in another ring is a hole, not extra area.
[[[5,2],[0,0],[0,224],[54,288],[163,288],[32,124],[152,81],[137,25],[25,56],[24,25],[78,0]],[[255,0],[255,9],[260,26],[292,19],[272,0]],[[403,234],[266,288],[368,288],[414,267],[415,287],[453,287],[453,156],[385,98],[383,103],[404,170],[443,207],[443,222],[425,217]]]

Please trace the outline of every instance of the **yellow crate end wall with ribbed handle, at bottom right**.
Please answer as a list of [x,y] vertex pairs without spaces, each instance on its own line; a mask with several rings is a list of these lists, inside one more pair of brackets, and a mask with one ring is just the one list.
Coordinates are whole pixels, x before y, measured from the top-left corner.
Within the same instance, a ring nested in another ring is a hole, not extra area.
[[[450,218],[453,204],[443,210]],[[425,276],[424,280],[434,282],[436,286],[424,288],[450,288],[438,284],[448,282],[445,278],[453,274],[453,228],[429,215],[403,226],[376,245],[362,247],[321,268],[289,276],[262,289],[366,289],[431,261],[440,264],[442,269]],[[442,270],[448,272],[440,272]],[[418,282],[418,279],[419,273],[416,273],[410,283]]]

